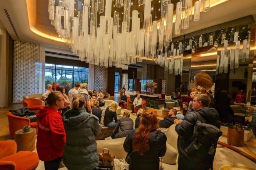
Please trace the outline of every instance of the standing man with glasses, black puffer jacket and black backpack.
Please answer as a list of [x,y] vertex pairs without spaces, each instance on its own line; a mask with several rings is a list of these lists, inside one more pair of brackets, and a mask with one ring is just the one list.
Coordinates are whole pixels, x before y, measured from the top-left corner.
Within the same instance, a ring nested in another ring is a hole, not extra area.
[[220,131],[219,114],[209,107],[210,97],[197,94],[193,111],[183,121],[174,120],[178,133],[178,170],[213,170]]

